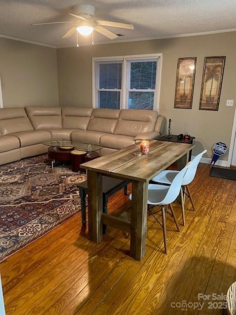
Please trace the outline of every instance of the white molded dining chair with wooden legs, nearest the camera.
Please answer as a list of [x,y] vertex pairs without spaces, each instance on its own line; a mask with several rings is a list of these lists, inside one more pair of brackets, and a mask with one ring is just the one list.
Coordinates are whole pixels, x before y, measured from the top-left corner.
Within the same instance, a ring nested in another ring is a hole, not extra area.
[[[168,213],[168,206],[171,209],[171,215],[174,218],[174,221],[177,226],[177,230],[179,231],[178,222],[176,219],[176,215],[174,209],[172,207],[172,202],[176,200],[179,195],[179,191],[181,189],[181,184],[183,180],[183,176],[185,175],[187,169],[191,166],[192,162],[189,162],[181,171],[178,172],[174,180],[172,181],[170,186],[158,185],[158,184],[149,184],[148,185],[148,205],[161,206],[162,215],[162,228],[163,228],[163,238],[164,238],[164,247],[165,253],[167,253],[167,240],[166,240],[166,215]],[[132,199],[132,194],[129,195],[129,199]],[[166,208],[165,208],[166,206]],[[155,213],[156,213],[155,212]],[[153,213],[151,213],[153,215]]]

